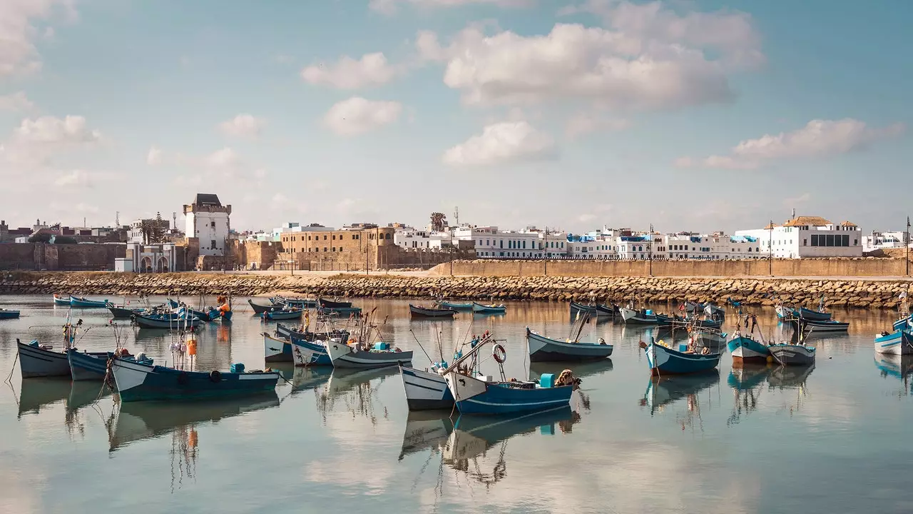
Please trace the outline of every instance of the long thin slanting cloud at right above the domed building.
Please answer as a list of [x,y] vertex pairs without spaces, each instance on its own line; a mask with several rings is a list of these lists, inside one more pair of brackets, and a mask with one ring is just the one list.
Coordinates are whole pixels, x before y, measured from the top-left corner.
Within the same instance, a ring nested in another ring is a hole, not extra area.
[[679,157],[676,165],[753,169],[776,159],[846,154],[902,134],[905,130],[903,123],[873,128],[852,118],[838,121],[812,120],[803,128],[792,132],[765,134],[757,139],[742,141],[732,148],[730,155],[710,155],[699,162],[690,157]]

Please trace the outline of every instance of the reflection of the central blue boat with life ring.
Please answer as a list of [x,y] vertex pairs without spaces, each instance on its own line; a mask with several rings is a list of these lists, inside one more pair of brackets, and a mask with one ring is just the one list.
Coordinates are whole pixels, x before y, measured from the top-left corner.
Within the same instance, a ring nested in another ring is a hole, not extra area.
[[[580,419],[580,414],[569,406],[511,417],[464,414],[456,419],[442,448],[441,463],[466,473],[488,488],[507,475],[506,452],[511,437],[537,431],[541,435],[553,435],[556,425],[561,433],[571,434],[573,424]],[[489,454],[496,446],[499,446],[497,453]]]

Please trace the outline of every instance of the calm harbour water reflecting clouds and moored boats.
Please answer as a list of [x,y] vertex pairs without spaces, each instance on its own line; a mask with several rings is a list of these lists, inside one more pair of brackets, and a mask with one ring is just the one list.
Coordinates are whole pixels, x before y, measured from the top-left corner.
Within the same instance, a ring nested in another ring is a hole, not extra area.
[[[0,296],[23,309],[0,321],[0,370],[16,337],[60,346],[66,309],[49,296]],[[205,327],[198,369],[263,367],[264,325],[237,300],[231,327]],[[389,316],[383,335],[415,348],[416,367],[467,331],[508,339],[508,376],[561,365],[526,361],[524,327],[567,337],[565,304],[509,304],[506,316],[416,322],[405,301],[356,301]],[[664,310],[664,309],[659,309]],[[110,349],[107,311],[75,312],[92,327],[79,347]],[[765,331],[777,327],[763,311]],[[730,316],[734,317],[734,316]],[[22,380],[0,389],[0,511],[91,512],[909,512],[913,423],[908,369],[881,360],[872,337],[890,313],[838,312],[849,336],[816,337],[809,373],[754,367],[719,378],[654,384],[637,342],[645,328],[585,330],[615,345],[583,377],[572,412],[505,423],[449,412],[409,414],[395,369],[341,374],[282,368],[274,397],[122,408],[100,384]],[[731,326],[727,325],[724,328]],[[411,331],[411,332],[410,332]],[[127,348],[159,363],[169,336],[127,331]],[[585,338],[585,337],[584,337]],[[497,364],[488,359],[489,374]],[[483,367],[485,368],[485,367]],[[454,415],[456,421],[458,414]]]

